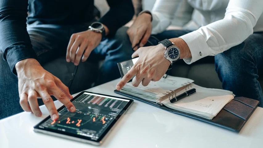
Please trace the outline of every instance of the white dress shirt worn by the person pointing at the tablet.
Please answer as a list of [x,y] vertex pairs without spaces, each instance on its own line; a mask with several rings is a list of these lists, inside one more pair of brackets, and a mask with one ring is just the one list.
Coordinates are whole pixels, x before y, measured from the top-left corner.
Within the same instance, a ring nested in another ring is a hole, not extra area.
[[153,32],[165,31],[182,1],[197,11],[191,22],[200,27],[180,36],[191,51],[192,58],[184,59],[187,64],[226,51],[253,32],[263,31],[263,0],[157,0],[151,11]]

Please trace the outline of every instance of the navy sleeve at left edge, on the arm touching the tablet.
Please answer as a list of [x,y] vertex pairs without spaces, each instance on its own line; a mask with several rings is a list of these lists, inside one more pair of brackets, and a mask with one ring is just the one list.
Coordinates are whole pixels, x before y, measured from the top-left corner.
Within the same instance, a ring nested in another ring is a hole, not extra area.
[[0,48],[11,71],[15,64],[37,55],[27,33],[27,0],[0,0]]

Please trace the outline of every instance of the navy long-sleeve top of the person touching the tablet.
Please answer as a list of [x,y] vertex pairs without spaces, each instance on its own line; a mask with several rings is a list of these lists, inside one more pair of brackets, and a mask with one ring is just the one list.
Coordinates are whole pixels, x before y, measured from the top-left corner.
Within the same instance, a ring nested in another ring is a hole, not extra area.
[[[134,8],[131,0],[107,2],[110,10],[99,22],[109,28],[110,34],[114,34],[132,19]],[[37,59],[26,23],[86,23],[94,19],[93,8],[93,0],[0,0],[0,48],[11,71],[16,74],[14,66],[20,60]]]

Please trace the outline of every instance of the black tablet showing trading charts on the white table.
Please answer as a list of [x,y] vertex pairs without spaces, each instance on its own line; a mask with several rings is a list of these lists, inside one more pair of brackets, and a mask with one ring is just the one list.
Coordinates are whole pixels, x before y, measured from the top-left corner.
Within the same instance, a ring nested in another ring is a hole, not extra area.
[[100,145],[116,122],[133,103],[132,99],[93,92],[81,92],[71,99],[76,112],[63,105],[58,109],[59,119],[48,116],[34,126],[34,131],[80,142]]

